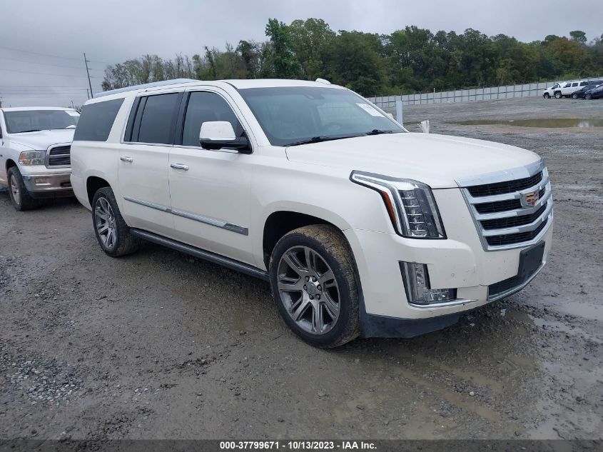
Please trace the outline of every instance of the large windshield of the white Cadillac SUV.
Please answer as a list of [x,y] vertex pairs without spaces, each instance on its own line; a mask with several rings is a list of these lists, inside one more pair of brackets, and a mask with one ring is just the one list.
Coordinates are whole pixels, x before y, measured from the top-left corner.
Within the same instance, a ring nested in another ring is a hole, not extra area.
[[403,131],[347,89],[284,86],[239,92],[273,146]]

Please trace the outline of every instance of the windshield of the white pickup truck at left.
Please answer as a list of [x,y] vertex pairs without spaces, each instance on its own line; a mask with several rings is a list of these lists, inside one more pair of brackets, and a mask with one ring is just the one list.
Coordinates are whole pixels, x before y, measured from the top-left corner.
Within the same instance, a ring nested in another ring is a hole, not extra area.
[[65,110],[20,110],[4,111],[6,132],[21,134],[22,132],[75,129],[79,114]]

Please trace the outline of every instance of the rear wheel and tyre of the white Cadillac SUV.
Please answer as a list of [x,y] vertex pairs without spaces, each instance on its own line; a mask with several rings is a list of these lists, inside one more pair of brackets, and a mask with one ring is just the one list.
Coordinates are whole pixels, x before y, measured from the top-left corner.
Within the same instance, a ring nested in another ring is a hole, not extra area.
[[140,241],[123,220],[113,190],[98,189],[92,200],[92,224],[98,244],[112,257],[125,256],[140,247]]

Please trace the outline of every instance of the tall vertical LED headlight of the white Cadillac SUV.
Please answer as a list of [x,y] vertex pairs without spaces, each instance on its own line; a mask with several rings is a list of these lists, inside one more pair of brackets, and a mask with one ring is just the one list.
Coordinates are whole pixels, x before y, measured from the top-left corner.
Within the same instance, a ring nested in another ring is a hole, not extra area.
[[446,238],[429,186],[411,179],[352,171],[350,180],[380,193],[395,231],[407,238]]

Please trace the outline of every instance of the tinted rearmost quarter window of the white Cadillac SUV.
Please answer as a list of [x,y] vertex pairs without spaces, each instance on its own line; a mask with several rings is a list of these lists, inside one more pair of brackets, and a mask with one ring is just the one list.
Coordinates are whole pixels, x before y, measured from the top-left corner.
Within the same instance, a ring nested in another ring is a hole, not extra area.
[[123,99],[84,105],[74,141],[107,141]]

